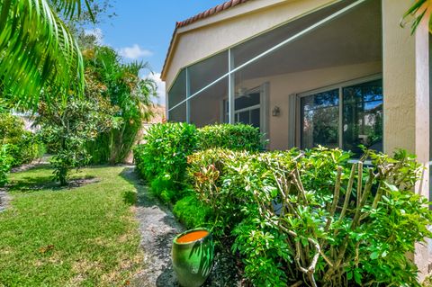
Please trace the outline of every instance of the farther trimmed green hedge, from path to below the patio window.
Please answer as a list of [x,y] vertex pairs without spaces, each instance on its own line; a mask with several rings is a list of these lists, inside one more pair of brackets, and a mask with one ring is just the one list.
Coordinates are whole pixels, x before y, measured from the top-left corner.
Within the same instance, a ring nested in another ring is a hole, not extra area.
[[207,148],[232,148],[258,151],[264,148],[263,137],[252,126],[222,124],[196,129],[187,123],[160,123],[151,126],[145,144],[134,148],[139,174],[148,180],[151,191],[164,202],[187,195],[184,175],[187,157]]

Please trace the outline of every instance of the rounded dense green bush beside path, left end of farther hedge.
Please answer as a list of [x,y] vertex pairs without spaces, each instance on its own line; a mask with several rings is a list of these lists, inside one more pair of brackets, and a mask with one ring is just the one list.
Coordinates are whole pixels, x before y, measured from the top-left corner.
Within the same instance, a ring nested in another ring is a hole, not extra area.
[[159,198],[175,202],[184,189],[187,156],[196,148],[196,128],[187,123],[155,124],[144,139],[146,144],[134,149],[139,173]]

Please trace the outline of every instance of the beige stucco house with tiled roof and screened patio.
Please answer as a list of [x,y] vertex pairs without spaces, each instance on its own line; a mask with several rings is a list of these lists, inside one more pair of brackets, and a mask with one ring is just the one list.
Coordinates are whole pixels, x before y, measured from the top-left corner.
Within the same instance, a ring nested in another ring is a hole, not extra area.
[[[426,20],[415,35],[401,27],[410,4],[231,0],[177,22],[167,120],[252,124],[269,149],[406,148],[428,166],[431,45]],[[428,196],[428,177],[417,193]],[[427,274],[432,248],[416,250]]]

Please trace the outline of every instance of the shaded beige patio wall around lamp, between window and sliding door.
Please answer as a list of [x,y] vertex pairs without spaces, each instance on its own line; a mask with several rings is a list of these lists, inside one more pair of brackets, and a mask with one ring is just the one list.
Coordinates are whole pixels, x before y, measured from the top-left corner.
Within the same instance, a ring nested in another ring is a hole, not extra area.
[[[335,85],[381,72],[382,63],[371,62],[262,77],[245,81],[241,86],[253,88],[266,82],[269,83],[269,148],[286,149],[288,148],[288,127],[290,126],[290,115],[288,112],[288,98],[290,94],[301,94],[328,85]],[[278,117],[271,116],[271,111],[275,106],[281,109],[281,114]]]

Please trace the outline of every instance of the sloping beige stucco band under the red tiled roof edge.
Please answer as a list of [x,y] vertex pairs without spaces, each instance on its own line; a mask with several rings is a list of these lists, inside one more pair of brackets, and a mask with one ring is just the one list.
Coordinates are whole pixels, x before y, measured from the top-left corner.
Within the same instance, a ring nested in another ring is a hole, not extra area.
[[223,13],[233,13],[229,9],[218,15],[220,22],[213,22],[203,27],[199,26],[200,22],[197,22],[192,30],[188,26],[179,29],[173,43],[172,58],[168,57],[162,75],[166,81],[166,89],[168,90],[172,85],[181,68],[338,0],[259,0],[260,3],[271,5],[247,12],[257,2],[250,1],[232,8],[238,15],[236,17],[223,18]]

